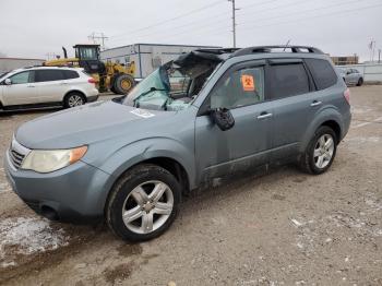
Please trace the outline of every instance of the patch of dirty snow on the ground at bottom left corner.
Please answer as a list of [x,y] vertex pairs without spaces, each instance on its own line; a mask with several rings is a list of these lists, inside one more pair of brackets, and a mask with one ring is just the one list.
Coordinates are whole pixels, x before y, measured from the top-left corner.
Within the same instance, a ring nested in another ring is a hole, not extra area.
[[47,219],[35,217],[5,218],[0,222],[0,266],[12,266],[9,261],[17,254],[55,250],[67,246],[69,236],[63,229],[55,230]]

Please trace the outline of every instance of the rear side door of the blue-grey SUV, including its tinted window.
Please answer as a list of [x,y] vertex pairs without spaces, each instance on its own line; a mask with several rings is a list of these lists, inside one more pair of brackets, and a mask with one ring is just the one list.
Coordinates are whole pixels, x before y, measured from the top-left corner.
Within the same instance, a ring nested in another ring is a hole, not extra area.
[[266,80],[274,108],[272,159],[294,156],[321,99],[310,93],[313,82],[301,59],[270,60]]

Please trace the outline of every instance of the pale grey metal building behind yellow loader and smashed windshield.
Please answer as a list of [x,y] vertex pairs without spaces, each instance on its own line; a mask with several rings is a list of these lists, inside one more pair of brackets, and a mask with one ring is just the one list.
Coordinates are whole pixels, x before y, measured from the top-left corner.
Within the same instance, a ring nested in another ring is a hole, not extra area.
[[122,64],[135,63],[134,78],[145,78],[160,64],[174,60],[182,52],[200,48],[219,48],[214,46],[188,46],[165,44],[133,44],[107,49],[100,52],[103,61]]

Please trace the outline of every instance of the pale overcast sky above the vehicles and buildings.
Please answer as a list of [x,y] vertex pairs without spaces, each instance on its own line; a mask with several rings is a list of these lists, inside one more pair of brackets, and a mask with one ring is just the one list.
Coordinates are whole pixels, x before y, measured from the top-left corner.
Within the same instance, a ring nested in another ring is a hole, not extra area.
[[[382,48],[382,0],[236,0],[239,47],[310,45],[333,56],[369,60],[371,38]],[[227,0],[1,0],[0,53],[70,55],[93,32],[106,46],[135,43],[231,47]]]

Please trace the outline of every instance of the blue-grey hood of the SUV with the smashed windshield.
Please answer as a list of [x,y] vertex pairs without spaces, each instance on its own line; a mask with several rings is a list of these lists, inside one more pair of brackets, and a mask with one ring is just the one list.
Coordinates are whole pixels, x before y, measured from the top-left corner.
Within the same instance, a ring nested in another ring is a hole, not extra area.
[[26,122],[17,129],[15,139],[28,148],[70,148],[132,132],[138,123],[145,132],[158,118],[175,114],[97,102]]

